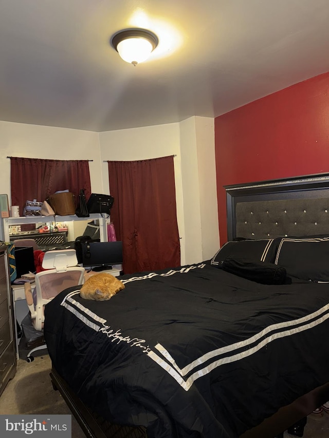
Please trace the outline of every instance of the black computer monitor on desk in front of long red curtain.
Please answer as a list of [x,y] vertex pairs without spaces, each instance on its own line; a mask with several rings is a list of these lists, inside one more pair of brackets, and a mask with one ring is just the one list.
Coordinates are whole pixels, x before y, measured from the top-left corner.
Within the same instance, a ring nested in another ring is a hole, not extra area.
[[93,271],[112,269],[114,264],[122,264],[122,242],[81,242],[82,266]]

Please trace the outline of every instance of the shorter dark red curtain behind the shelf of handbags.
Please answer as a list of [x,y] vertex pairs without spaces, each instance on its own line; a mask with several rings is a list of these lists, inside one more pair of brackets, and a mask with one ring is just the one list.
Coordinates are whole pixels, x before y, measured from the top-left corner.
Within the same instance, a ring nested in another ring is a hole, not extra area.
[[23,215],[27,200],[43,202],[49,195],[68,189],[78,199],[84,189],[91,192],[88,160],[42,160],[10,157],[11,205],[20,206]]

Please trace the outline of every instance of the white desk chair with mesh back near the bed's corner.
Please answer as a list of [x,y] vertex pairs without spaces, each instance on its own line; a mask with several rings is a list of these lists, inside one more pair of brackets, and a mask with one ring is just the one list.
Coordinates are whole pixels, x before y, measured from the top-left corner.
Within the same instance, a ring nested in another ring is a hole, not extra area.
[[[25,297],[31,314],[32,324],[35,330],[40,331],[42,336],[44,324],[44,307],[53,297],[64,289],[83,283],[85,270],[77,266],[76,250],[47,251],[42,267],[47,271],[35,275],[35,289],[31,290],[31,284],[25,283]],[[72,267],[73,266],[73,267]],[[31,353],[47,348],[46,344],[33,348],[29,351],[26,360],[34,360]]]

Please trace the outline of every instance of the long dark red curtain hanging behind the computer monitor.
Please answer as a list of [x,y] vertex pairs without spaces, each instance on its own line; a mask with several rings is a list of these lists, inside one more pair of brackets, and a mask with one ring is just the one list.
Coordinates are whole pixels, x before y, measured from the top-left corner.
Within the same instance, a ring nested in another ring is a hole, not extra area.
[[173,157],[108,161],[108,176],[124,273],[179,266]]

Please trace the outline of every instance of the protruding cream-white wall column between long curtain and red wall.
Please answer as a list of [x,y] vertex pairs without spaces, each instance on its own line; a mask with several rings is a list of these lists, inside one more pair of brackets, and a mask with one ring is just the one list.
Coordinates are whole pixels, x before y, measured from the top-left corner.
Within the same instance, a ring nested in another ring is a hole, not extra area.
[[192,117],[180,123],[186,263],[208,260],[218,251],[214,119]]

